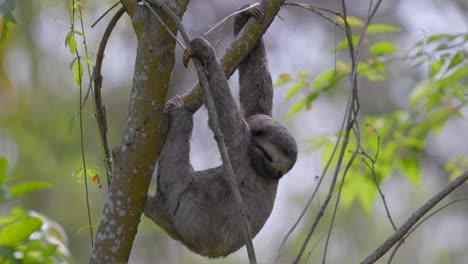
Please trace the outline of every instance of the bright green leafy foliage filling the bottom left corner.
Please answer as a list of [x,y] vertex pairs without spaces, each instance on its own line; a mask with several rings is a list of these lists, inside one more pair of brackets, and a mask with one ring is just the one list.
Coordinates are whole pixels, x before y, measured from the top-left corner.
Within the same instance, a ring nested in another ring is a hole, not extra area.
[[[50,188],[44,182],[8,184],[8,162],[0,158],[1,202],[35,190]],[[11,185],[11,186],[10,186]],[[44,215],[22,208],[13,208],[0,216],[1,263],[65,262],[69,255],[67,237],[60,225]]]

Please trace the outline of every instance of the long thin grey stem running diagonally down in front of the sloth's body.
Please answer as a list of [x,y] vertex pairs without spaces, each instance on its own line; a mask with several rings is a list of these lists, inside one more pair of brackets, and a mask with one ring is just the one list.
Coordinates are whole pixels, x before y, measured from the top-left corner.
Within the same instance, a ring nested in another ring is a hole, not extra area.
[[[154,4],[154,5],[162,8],[163,11],[165,11],[173,19],[173,21],[176,23],[176,26],[177,26],[180,34],[182,35],[182,38],[184,39],[184,41],[188,45],[188,43],[190,43],[190,37],[189,37],[188,33],[185,31],[185,28],[182,25],[182,22],[180,21],[180,19],[177,17],[177,15],[168,6],[166,6],[164,3],[156,3],[156,1],[153,1],[153,0],[146,0],[146,1],[148,1],[151,4]],[[146,3],[146,1],[143,0],[142,2],[145,5],[147,5],[149,8],[151,8],[148,5],[148,3]],[[157,15],[157,13],[154,12],[154,10],[153,10],[153,14],[155,16],[159,17]],[[159,18],[159,21],[161,23],[165,24],[160,18]],[[166,27],[166,28],[168,29],[168,27]],[[228,179],[229,185],[230,185],[230,187],[231,187],[231,189],[233,191],[234,199],[236,200],[236,203],[240,205],[241,210],[242,210],[241,213],[243,215],[244,222],[245,222],[245,230],[244,230],[243,233],[244,233],[244,238],[245,238],[245,244],[246,244],[246,247],[247,247],[247,254],[249,256],[249,262],[251,264],[256,264],[257,260],[256,260],[256,257],[255,257],[255,249],[254,249],[254,246],[253,246],[253,243],[252,243],[252,232],[251,232],[251,229],[250,229],[248,216],[247,216],[245,206],[244,206],[244,201],[242,199],[242,195],[240,193],[239,186],[238,186],[238,183],[237,183],[237,180],[236,180],[236,175],[234,174],[234,171],[233,171],[232,165],[231,165],[231,161],[230,161],[229,156],[227,154],[227,149],[226,149],[226,145],[224,143],[223,133],[221,132],[221,130],[219,128],[218,115],[216,113],[216,108],[215,108],[215,105],[214,105],[214,99],[213,99],[213,97],[211,95],[211,91],[210,91],[210,88],[209,88],[206,73],[205,73],[204,67],[203,67],[203,65],[201,64],[200,61],[194,60],[194,64],[195,64],[195,67],[197,69],[198,78],[199,78],[201,87],[203,89],[203,93],[205,95],[205,104],[206,104],[207,109],[208,109],[209,120],[211,122],[212,127],[214,128],[213,132],[215,134],[215,140],[216,140],[216,143],[218,144],[219,152],[221,154],[221,159],[223,161],[223,169],[224,169],[224,172],[226,173],[226,175],[228,175],[227,179]]]

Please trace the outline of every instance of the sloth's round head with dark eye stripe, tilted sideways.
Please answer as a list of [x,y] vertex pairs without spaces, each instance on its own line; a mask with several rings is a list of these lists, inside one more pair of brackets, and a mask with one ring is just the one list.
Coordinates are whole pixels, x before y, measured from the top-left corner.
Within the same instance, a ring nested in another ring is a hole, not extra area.
[[297,145],[279,122],[267,115],[247,118],[252,135],[249,155],[258,175],[279,180],[296,163]]

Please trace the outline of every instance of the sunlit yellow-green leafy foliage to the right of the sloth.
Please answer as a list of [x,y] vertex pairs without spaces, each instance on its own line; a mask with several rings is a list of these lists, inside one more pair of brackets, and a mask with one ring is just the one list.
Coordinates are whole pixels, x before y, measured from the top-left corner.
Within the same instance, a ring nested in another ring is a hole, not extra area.
[[[338,19],[339,23],[344,23]],[[364,23],[358,18],[350,18],[352,27],[362,27]],[[365,61],[358,64],[357,74],[368,81],[384,80],[385,63],[389,56],[397,55],[399,47],[390,41],[373,42],[372,36],[398,32],[392,25],[374,24],[367,28],[362,57]],[[356,47],[359,35],[352,36]],[[430,133],[440,133],[450,118],[461,117],[460,108],[467,103],[468,59],[466,46],[468,34],[438,34],[417,42],[409,51],[410,61],[415,65],[427,64],[429,74],[410,93],[408,106],[390,114],[367,116],[362,124],[367,125],[354,135],[348,143],[348,149],[357,149],[363,162],[356,162],[348,171],[343,185],[343,205],[350,206],[353,201],[367,211],[373,209],[378,194],[376,184],[398,172],[415,186],[421,179],[420,158],[424,154],[426,139]],[[348,47],[345,39],[336,45],[339,52]],[[280,76],[276,86],[291,84],[286,99],[290,100],[300,94],[297,102],[289,109],[287,118],[293,117],[303,109],[312,109],[312,103],[324,92],[338,89],[351,72],[350,63],[338,61],[334,69],[325,70],[310,80],[309,74],[291,77]],[[321,143],[311,140],[312,149],[324,148],[325,165],[332,154],[335,140],[319,136]],[[345,160],[352,153],[345,155]],[[376,163],[375,166],[369,164]],[[336,160],[332,161],[332,165]],[[447,163],[449,179],[458,176],[468,169],[468,156],[460,157]]]

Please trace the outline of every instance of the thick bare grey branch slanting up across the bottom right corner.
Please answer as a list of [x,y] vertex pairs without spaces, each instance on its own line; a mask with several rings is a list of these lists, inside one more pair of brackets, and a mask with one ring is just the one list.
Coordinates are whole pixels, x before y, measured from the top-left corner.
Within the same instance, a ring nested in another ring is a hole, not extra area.
[[427,201],[423,206],[421,206],[416,212],[411,214],[411,217],[408,218],[405,223],[397,230],[393,235],[391,235],[382,245],[380,245],[372,254],[366,257],[361,264],[370,264],[374,263],[380,259],[385,253],[387,253],[400,239],[404,237],[406,233],[413,227],[419,219],[421,219],[429,210],[431,210],[435,205],[437,205],[442,199],[447,195],[453,192],[456,188],[462,185],[468,180],[468,171],[465,171],[455,180],[450,182],[444,189],[435,194],[429,201]]

